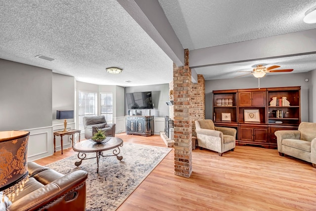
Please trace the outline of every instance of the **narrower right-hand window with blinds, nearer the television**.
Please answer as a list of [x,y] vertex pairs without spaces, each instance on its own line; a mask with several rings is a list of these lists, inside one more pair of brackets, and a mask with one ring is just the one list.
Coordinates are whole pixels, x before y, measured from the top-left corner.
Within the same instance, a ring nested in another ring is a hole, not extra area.
[[113,93],[100,93],[101,115],[105,116],[107,123],[113,123]]

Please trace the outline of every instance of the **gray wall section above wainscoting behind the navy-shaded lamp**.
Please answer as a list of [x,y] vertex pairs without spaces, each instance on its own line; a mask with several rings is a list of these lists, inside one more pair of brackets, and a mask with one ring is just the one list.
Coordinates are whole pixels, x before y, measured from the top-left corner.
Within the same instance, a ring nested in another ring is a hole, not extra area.
[[[56,119],[56,110],[75,110],[75,77],[53,73],[52,123],[63,124],[63,119]],[[75,119],[67,119],[68,123],[74,121]]]

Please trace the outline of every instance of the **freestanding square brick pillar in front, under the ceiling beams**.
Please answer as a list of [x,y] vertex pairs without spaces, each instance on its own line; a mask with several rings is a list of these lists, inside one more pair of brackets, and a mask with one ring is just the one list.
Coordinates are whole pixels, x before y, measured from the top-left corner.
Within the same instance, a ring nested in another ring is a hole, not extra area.
[[192,79],[188,49],[185,50],[184,62],[184,67],[173,68],[174,174],[190,177],[192,174]]

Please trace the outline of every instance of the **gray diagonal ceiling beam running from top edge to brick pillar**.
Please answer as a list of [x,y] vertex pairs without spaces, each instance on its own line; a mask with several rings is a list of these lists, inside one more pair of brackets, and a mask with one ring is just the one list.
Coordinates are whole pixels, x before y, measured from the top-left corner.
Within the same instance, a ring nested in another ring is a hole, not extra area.
[[184,66],[184,49],[158,0],[117,1],[178,67]]

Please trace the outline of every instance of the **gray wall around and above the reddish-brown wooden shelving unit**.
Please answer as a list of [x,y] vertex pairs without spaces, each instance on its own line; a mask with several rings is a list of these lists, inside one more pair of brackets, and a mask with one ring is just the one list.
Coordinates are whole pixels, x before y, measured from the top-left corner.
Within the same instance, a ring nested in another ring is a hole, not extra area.
[[[301,120],[312,121],[309,115],[309,101],[313,95],[311,90],[312,80],[305,82],[305,78],[311,77],[311,73],[275,74],[270,73],[260,79],[260,87],[286,87],[301,86]],[[222,80],[205,81],[205,118],[212,119],[213,90],[258,88],[258,78],[253,76]],[[315,104],[314,104],[315,105]]]

